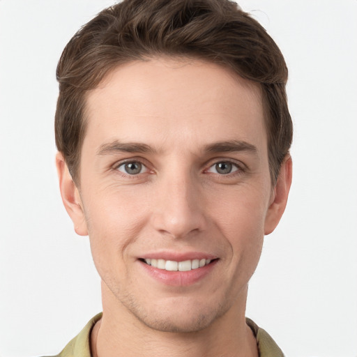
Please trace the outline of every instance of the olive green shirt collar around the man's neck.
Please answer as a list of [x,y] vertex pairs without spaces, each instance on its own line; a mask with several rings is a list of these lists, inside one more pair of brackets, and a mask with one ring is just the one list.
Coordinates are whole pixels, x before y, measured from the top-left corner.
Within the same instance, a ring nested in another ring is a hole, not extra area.
[[[93,317],[79,335],[71,340],[63,351],[55,357],[91,357],[91,331],[101,317],[102,313]],[[263,328],[259,328],[251,319],[246,319],[246,321],[257,338],[259,357],[284,357],[278,344]]]

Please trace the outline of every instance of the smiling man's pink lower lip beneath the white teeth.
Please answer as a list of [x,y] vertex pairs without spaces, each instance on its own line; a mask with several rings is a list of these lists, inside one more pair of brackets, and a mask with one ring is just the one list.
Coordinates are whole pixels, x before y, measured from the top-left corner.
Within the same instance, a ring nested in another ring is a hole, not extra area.
[[165,271],[164,269],[154,268],[153,266],[139,261],[140,265],[146,273],[158,282],[173,287],[188,287],[203,280],[217,264],[218,259],[211,261],[210,264],[202,266],[202,268],[192,269],[190,271]]

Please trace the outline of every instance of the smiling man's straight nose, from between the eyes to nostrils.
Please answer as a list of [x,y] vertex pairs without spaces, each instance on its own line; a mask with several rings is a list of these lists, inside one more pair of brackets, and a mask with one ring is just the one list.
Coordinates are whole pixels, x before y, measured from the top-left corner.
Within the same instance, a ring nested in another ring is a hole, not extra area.
[[190,173],[162,175],[152,194],[151,223],[156,231],[185,238],[205,229],[204,195]]

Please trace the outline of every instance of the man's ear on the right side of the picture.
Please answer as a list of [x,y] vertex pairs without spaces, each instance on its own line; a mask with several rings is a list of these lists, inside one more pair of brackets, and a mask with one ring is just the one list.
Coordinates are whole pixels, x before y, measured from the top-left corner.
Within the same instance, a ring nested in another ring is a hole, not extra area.
[[288,154],[282,162],[278,180],[271,195],[271,202],[264,223],[264,234],[271,234],[278,225],[280,218],[282,218],[282,213],[285,211],[291,186],[292,166],[291,156]]

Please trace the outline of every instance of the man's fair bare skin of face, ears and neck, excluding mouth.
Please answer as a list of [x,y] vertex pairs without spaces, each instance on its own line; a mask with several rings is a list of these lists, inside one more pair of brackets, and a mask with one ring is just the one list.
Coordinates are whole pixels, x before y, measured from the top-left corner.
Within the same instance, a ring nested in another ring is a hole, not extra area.
[[[93,354],[257,356],[248,281],[291,183],[289,156],[271,183],[259,87],[195,59],[135,61],[88,93],[86,121],[78,187],[61,153],[56,165],[102,279]],[[129,174],[125,162],[142,169]],[[216,260],[197,282],[171,286],[140,260],[167,252]]]

